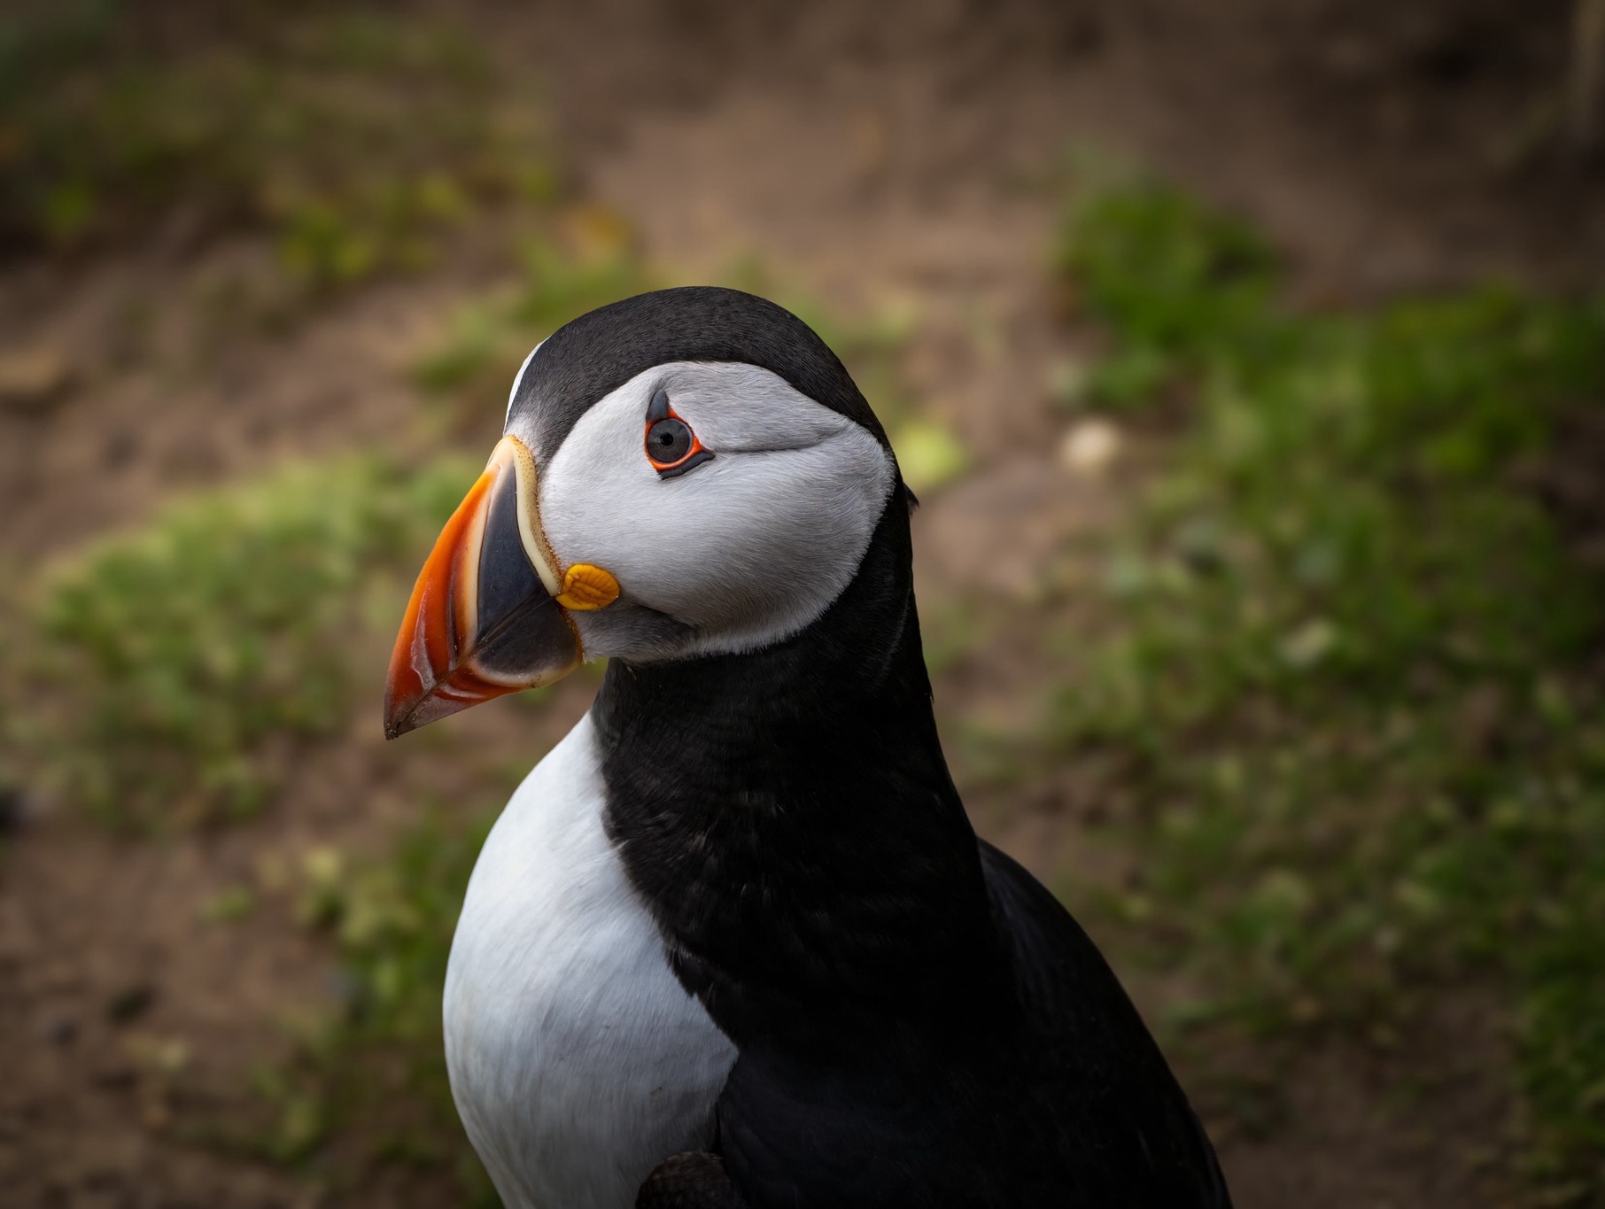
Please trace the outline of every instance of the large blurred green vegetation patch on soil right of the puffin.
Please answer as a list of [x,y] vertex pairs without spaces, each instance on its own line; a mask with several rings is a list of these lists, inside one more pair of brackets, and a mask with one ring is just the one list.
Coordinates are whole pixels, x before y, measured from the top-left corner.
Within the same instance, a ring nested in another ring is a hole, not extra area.
[[1154,185],[1079,207],[1058,265],[1112,337],[1091,398],[1193,414],[1051,719],[1135,788],[1114,906],[1165,920],[1194,1020],[1385,1042],[1493,986],[1525,1174],[1605,1203],[1605,583],[1520,486],[1605,398],[1605,303],[1290,313],[1249,230]]

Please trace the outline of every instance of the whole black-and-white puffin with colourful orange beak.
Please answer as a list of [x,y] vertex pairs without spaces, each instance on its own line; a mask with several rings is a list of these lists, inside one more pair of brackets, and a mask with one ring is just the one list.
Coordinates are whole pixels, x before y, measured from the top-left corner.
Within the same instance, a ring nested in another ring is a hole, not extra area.
[[897,459],[790,311],[534,347],[385,732],[607,668],[475,864],[453,1097],[509,1209],[1220,1209],[1186,1095],[942,755]]

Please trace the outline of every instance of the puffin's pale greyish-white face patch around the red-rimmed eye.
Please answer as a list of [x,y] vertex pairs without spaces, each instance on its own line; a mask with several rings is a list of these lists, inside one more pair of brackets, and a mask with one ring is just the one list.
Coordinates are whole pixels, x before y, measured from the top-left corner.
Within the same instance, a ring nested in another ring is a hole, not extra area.
[[[658,390],[713,454],[672,477],[645,448]],[[534,448],[522,427],[507,432]],[[756,650],[807,626],[857,573],[896,483],[846,416],[767,369],[698,361],[597,400],[538,475],[559,564],[620,583],[616,605],[573,613],[586,655],[636,660]]]

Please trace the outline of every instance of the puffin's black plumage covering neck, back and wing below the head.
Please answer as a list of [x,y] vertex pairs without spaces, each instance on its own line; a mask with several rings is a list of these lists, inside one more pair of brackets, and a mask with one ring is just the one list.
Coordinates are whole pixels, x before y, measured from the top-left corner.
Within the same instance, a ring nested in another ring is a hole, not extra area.
[[719,1150],[751,1209],[1229,1204],[1103,957],[979,845],[931,713],[908,514],[750,655],[608,668],[608,830],[738,1047]]

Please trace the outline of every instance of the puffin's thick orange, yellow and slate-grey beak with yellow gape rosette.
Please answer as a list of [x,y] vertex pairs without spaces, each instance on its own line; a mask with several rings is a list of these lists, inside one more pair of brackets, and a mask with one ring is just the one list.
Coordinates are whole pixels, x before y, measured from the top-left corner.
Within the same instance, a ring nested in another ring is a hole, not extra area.
[[559,575],[534,458],[502,437],[412,588],[390,655],[385,737],[562,679],[584,658],[570,610],[615,599],[618,581],[600,567]]

